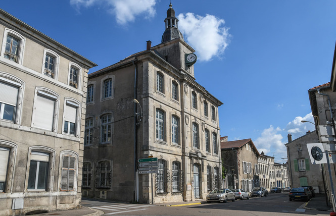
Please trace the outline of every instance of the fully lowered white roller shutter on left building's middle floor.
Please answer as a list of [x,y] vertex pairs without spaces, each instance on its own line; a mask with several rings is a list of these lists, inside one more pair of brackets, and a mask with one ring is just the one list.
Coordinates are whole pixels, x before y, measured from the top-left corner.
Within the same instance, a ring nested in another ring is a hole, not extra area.
[[45,130],[53,130],[55,99],[37,94],[33,126]]

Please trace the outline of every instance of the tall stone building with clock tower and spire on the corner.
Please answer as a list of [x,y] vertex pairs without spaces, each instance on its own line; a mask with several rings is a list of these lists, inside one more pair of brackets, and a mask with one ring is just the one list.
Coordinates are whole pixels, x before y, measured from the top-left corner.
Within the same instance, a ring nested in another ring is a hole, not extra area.
[[[222,102],[195,81],[195,50],[169,7],[160,44],[147,41],[146,50],[89,74],[84,196],[190,201],[221,186]],[[158,171],[137,172],[149,156]]]

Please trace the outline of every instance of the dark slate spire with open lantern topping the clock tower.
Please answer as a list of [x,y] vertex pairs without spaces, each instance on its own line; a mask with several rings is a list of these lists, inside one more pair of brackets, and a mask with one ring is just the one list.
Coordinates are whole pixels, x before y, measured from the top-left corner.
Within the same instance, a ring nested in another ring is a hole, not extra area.
[[175,11],[173,5],[169,4],[169,9],[167,10],[167,18],[164,20],[166,25],[166,30],[162,35],[161,43],[180,38],[184,41],[183,35],[177,28],[178,19],[175,17]]

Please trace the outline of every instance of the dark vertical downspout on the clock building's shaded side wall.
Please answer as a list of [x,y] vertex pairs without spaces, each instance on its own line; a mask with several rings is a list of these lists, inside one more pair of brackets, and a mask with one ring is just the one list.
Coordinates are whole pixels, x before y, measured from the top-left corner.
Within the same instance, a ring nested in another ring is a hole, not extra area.
[[[137,65],[134,64],[134,61],[136,61],[136,58],[135,60],[132,61],[132,64],[134,65],[134,99],[137,98]],[[136,162],[137,162],[137,129],[136,129],[136,124],[137,124],[137,104],[134,103],[134,192],[133,192],[133,197],[134,197],[134,201],[138,201],[137,200],[137,191],[138,191],[138,188],[137,188],[137,178],[136,178],[136,175],[137,175],[137,165],[136,165]]]

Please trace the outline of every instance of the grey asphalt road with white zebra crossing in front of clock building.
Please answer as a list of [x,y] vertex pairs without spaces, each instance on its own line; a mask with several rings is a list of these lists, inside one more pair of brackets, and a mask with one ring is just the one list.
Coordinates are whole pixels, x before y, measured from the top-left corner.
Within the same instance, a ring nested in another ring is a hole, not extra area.
[[[167,204],[167,203],[165,203]],[[173,204],[173,203],[169,203]],[[304,209],[305,202],[289,201],[288,192],[270,193],[267,197],[227,203],[206,203],[186,206],[164,204],[130,204],[102,200],[83,199],[82,205],[100,209],[104,215],[329,215],[328,211]]]

